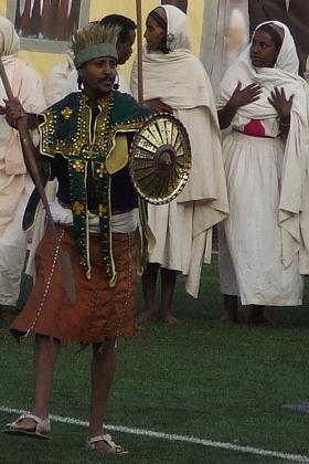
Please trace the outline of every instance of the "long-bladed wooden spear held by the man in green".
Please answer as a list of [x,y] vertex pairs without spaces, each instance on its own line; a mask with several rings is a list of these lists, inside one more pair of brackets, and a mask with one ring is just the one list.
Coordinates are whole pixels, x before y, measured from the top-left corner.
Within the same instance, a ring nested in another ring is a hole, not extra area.
[[[7,75],[1,57],[0,57],[0,76],[3,83],[3,87],[6,89],[6,93],[8,95],[9,102],[13,102],[14,96],[13,96],[12,88],[9,83],[8,75]],[[56,249],[58,251],[57,263],[60,266],[60,272],[62,274],[62,283],[63,283],[64,289],[66,292],[68,299],[72,303],[75,303],[75,287],[74,287],[74,278],[73,278],[73,273],[72,273],[71,260],[70,260],[68,254],[61,246],[60,236],[58,236],[58,233],[56,231],[56,228],[52,218],[49,200],[47,200],[47,197],[46,197],[46,193],[45,193],[42,180],[41,180],[39,168],[35,162],[35,157],[36,157],[35,147],[33,145],[33,141],[32,141],[32,138],[30,136],[28,128],[24,126],[21,119],[17,120],[17,129],[19,131],[24,159],[26,160],[30,175],[32,177],[32,180],[38,189],[40,198],[45,208],[46,217],[50,221],[52,233],[55,239]]]

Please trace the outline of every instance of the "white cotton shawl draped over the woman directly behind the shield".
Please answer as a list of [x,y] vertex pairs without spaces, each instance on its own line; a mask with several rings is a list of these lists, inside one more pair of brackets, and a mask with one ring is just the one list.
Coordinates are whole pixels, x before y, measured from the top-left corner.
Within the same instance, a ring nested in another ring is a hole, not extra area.
[[[201,255],[210,262],[210,235],[207,231],[224,220],[228,213],[227,194],[220,128],[215,101],[207,74],[190,51],[187,15],[175,7],[162,6],[168,18],[168,54],[142,54],[143,98],[159,98],[171,106],[191,141],[192,169],[184,190],[177,202],[198,202],[193,214],[193,246],[187,291],[198,296]],[[137,97],[137,62],[131,73],[131,91]]]

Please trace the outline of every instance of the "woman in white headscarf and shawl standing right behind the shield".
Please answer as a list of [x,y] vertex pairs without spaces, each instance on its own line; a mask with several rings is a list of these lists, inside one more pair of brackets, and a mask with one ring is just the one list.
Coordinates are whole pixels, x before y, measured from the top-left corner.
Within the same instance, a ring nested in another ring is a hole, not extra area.
[[[227,197],[220,128],[213,92],[202,63],[191,52],[187,15],[162,6],[147,18],[143,50],[143,98],[153,112],[173,113],[188,130],[192,169],[188,184],[171,203],[148,205],[156,238],[143,275],[145,312],[156,313],[156,281],[161,268],[160,318],[175,321],[172,298],[177,273],[187,277],[187,292],[198,297],[203,263],[210,263],[212,228],[227,217]],[[137,95],[137,63],[131,75]]]

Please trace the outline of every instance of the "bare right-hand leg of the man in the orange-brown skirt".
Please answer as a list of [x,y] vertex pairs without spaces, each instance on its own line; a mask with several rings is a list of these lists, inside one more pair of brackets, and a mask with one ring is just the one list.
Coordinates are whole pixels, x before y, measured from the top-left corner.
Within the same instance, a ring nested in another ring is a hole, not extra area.
[[[115,344],[115,338],[106,338],[104,345],[93,347],[89,437],[104,434],[103,422],[116,370]],[[110,447],[103,441],[96,443],[96,449],[105,453],[110,452]]]

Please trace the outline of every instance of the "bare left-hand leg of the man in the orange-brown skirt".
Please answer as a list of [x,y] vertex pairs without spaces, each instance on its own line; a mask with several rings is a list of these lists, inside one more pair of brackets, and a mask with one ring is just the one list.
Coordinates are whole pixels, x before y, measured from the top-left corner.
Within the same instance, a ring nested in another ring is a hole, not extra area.
[[[51,339],[44,335],[35,335],[34,346],[34,401],[31,414],[40,419],[49,415],[49,401],[52,392],[53,372],[60,351],[58,340]],[[34,431],[35,422],[24,419],[20,422],[23,430]]]

